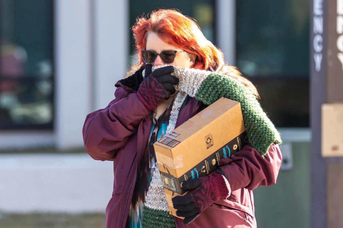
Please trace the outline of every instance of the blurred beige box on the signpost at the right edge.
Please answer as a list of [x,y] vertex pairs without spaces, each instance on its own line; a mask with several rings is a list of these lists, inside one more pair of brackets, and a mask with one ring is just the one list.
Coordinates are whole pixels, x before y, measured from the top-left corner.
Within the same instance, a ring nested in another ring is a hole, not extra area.
[[343,103],[322,104],[321,154],[343,156]]

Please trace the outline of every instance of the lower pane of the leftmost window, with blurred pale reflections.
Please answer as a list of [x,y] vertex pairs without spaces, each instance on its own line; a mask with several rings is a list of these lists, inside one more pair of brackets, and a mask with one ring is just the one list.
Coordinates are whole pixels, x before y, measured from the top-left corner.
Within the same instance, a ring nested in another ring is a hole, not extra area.
[[1,84],[11,84],[11,89],[0,92],[0,126],[50,125],[52,121],[51,79],[1,79]]

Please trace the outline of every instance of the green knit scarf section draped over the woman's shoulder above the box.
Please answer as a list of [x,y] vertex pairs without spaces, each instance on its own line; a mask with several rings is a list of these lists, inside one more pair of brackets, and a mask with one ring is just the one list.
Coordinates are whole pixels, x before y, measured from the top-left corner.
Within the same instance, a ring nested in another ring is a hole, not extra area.
[[195,98],[210,105],[221,97],[240,103],[248,140],[261,155],[275,142],[282,143],[279,132],[245,85],[229,76],[211,73],[201,83]]

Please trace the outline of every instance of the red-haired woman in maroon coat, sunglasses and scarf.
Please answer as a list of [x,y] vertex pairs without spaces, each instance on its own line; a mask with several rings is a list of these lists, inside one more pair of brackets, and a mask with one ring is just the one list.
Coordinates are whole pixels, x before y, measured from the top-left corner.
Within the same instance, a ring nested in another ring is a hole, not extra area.
[[[275,184],[281,138],[255,87],[175,10],[139,18],[132,30],[140,64],[83,128],[90,156],[114,161],[106,227],[256,227],[252,190]],[[249,143],[222,159],[217,172],[184,182],[189,192],[173,204],[185,219],[171,216],[153,143],[222,96],[240,102]]]

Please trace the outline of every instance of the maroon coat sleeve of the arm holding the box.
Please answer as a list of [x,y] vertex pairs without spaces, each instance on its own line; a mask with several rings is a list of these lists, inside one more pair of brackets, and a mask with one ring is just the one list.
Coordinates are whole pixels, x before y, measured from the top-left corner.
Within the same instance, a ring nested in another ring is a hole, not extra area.
[[270,146],[264,156],[248,144],[224,162],[226,164],[220,169],[226,175],[231,191],[240,188],[253,190],[261,185],[276,183],[282,155],[276,143]]

